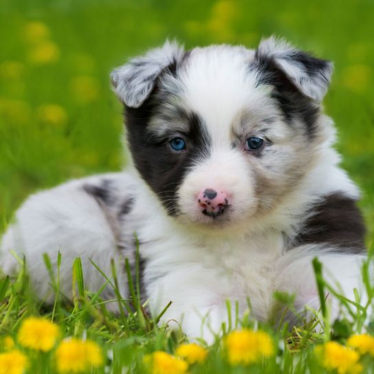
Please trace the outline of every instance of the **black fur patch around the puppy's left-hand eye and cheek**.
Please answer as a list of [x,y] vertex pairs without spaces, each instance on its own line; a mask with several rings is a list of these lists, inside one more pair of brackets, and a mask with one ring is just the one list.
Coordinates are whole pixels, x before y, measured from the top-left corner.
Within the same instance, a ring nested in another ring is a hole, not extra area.
[[141,107],[126,108],[127,136],[137,170],[162,201],[168,214],[174,216],[178,213],[177,188],[192,162],[209,155],[209,136],[201,118],[195,113],[185,112],[183,115],[188,119],[188,131],[175,134],[175,137],[184,136],[186,150],[175,152],[170,148],[171,133],[165,134],[164,139],[159,135],[153,136],[147,130],[147,125],[158,107],[155,91],[157,87]]

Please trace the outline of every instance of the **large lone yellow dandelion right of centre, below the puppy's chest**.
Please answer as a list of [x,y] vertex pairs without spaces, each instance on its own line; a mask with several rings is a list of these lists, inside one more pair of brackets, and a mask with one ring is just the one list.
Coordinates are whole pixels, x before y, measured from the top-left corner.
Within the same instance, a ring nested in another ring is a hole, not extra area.
[[232,331],[225,338],[225,350],[230,364],[248,365],[274,355],[274,344],[264,331]]

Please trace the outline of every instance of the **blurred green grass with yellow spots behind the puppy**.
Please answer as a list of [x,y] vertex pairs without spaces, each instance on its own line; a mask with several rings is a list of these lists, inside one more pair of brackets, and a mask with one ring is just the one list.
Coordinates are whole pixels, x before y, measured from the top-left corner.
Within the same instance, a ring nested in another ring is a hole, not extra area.
[[30,192],[120,170],[113,67],[167,37],[255,47],[270,34],[335,62],[325,107],[373,241],[373,0],[0,0],[0,232]]

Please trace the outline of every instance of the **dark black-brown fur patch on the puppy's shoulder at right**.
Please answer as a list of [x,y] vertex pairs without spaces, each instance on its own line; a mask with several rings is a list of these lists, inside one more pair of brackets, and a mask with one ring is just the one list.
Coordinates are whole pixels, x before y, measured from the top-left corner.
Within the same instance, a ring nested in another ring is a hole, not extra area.
[[303,231],[296,236],[297,245],[328,243],[341,252],[365,251],[365,225],[355,200],[339,193],[325,197],[314,207]]

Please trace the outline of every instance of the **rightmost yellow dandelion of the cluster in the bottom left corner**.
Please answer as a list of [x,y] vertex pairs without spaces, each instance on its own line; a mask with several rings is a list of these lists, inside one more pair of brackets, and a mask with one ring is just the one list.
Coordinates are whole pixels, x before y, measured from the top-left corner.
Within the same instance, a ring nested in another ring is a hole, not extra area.
[[56,349],[59,373],[80,373],[103,362],[102,351],[96,342],[72,338],[64,340]]

